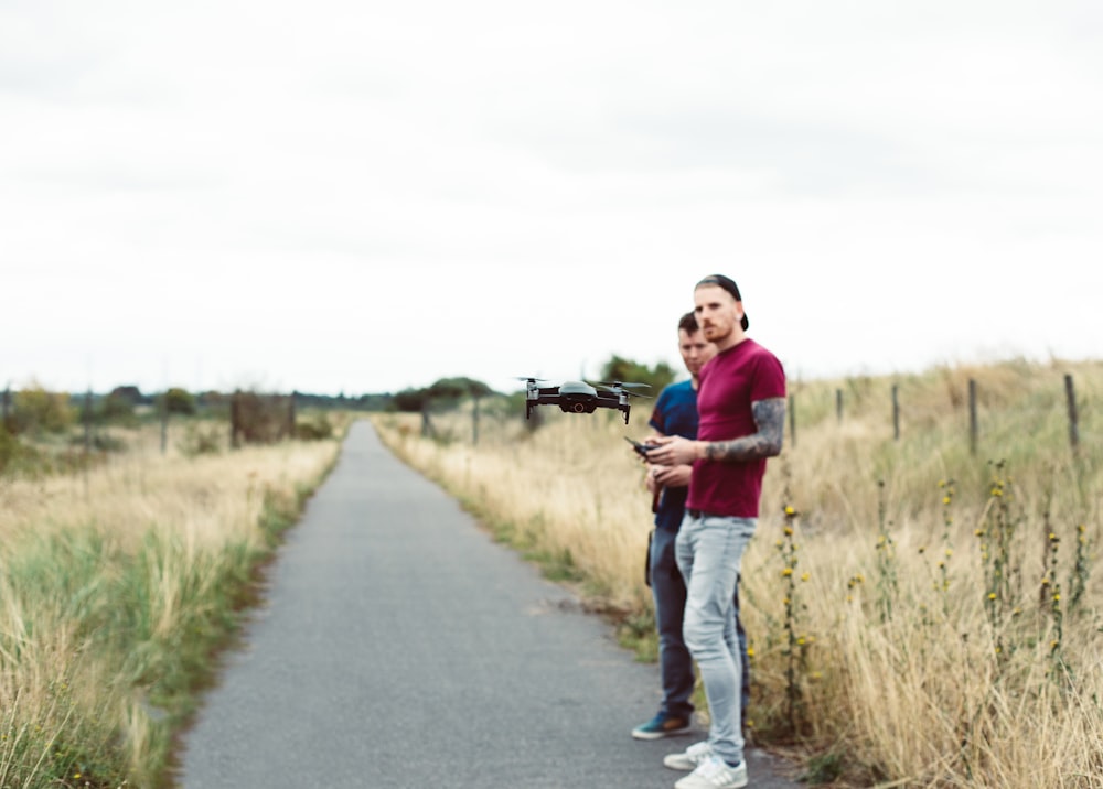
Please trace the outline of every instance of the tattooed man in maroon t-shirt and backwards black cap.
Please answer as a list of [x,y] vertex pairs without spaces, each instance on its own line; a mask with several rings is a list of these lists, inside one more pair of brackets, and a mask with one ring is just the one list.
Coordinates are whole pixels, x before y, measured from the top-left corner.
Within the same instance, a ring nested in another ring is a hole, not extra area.
[[708,699],[708,739],[663,764],[693,770],[677,789],[747,786],[740,731],[740,653],[732,597],[739,563],[758,522],[768,457],[781,452],[785,374],[769,350],[747,336],[739,288],[722,274],[694,289],[694,314],[717,354],[700,370],[697,440],[667,436],[647,460],[693,463],[686,516],[676,542],[686,580],[684,636]]

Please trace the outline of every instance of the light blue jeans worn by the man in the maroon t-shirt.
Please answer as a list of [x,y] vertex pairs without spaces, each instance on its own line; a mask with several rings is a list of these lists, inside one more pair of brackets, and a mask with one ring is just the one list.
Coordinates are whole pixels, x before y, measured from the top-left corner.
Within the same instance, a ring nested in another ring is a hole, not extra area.
[[732,599],[754,518],[686,512],[675,551],[686,581],[683,634],[697,661],[711,725],[713,752],[729,764],[743,758],[740,721],[742,660]]

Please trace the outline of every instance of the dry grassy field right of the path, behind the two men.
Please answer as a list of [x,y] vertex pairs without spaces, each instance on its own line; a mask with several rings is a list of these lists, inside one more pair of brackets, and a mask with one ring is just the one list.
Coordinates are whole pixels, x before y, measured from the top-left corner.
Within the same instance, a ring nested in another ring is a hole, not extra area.
[[[1103,787],[1103,364],[946,367],[790,391],[796,440],[770,462],[742,568],[752,742],[837,786]],[[646,434],[649,406],[627,428],[544,409],[533,432],[520,408],[492,419],[484,403],[478,445],[462,410],[433,418],[436,437],[419,419],[373,421],[653,659],[650,497],[621,440]]]

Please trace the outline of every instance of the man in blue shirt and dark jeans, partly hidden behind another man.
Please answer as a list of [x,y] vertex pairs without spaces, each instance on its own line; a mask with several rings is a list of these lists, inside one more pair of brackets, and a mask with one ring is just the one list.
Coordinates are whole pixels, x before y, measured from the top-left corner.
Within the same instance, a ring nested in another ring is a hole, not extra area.
[[[716,347],[705,339],[692,312],[678,321],[678,350],[689,372],[689,380],[672,383],[655,401],[649,424],[658,435],[697,437],[697,383],[700,368],[716,354]],[[658,662],[663,683],[663,703],[658,713],[632,729],[636,739],[658,739],[693,729],[694,689],[693,658],[682,636],[686,603],[686,585],[674,559],[674,540],[685,516],[690,465],[647,465],[647,489],[655,497],[655,531],[647,556],[651,592],[655,601],[655,625],[658,630]],[[738,586],[737,586],[738,590]],[[743,652],[742,707],[747,709],[750,673],[747,668],[747,636],[739,620],[739,596],[736,593],[736,625]]]

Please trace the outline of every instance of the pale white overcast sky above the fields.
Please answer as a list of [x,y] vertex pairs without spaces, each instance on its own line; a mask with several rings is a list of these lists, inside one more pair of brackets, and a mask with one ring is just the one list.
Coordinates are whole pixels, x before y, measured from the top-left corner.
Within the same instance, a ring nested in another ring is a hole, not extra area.
[[0,0],[0,387],[1100,358],[1103,4]]

